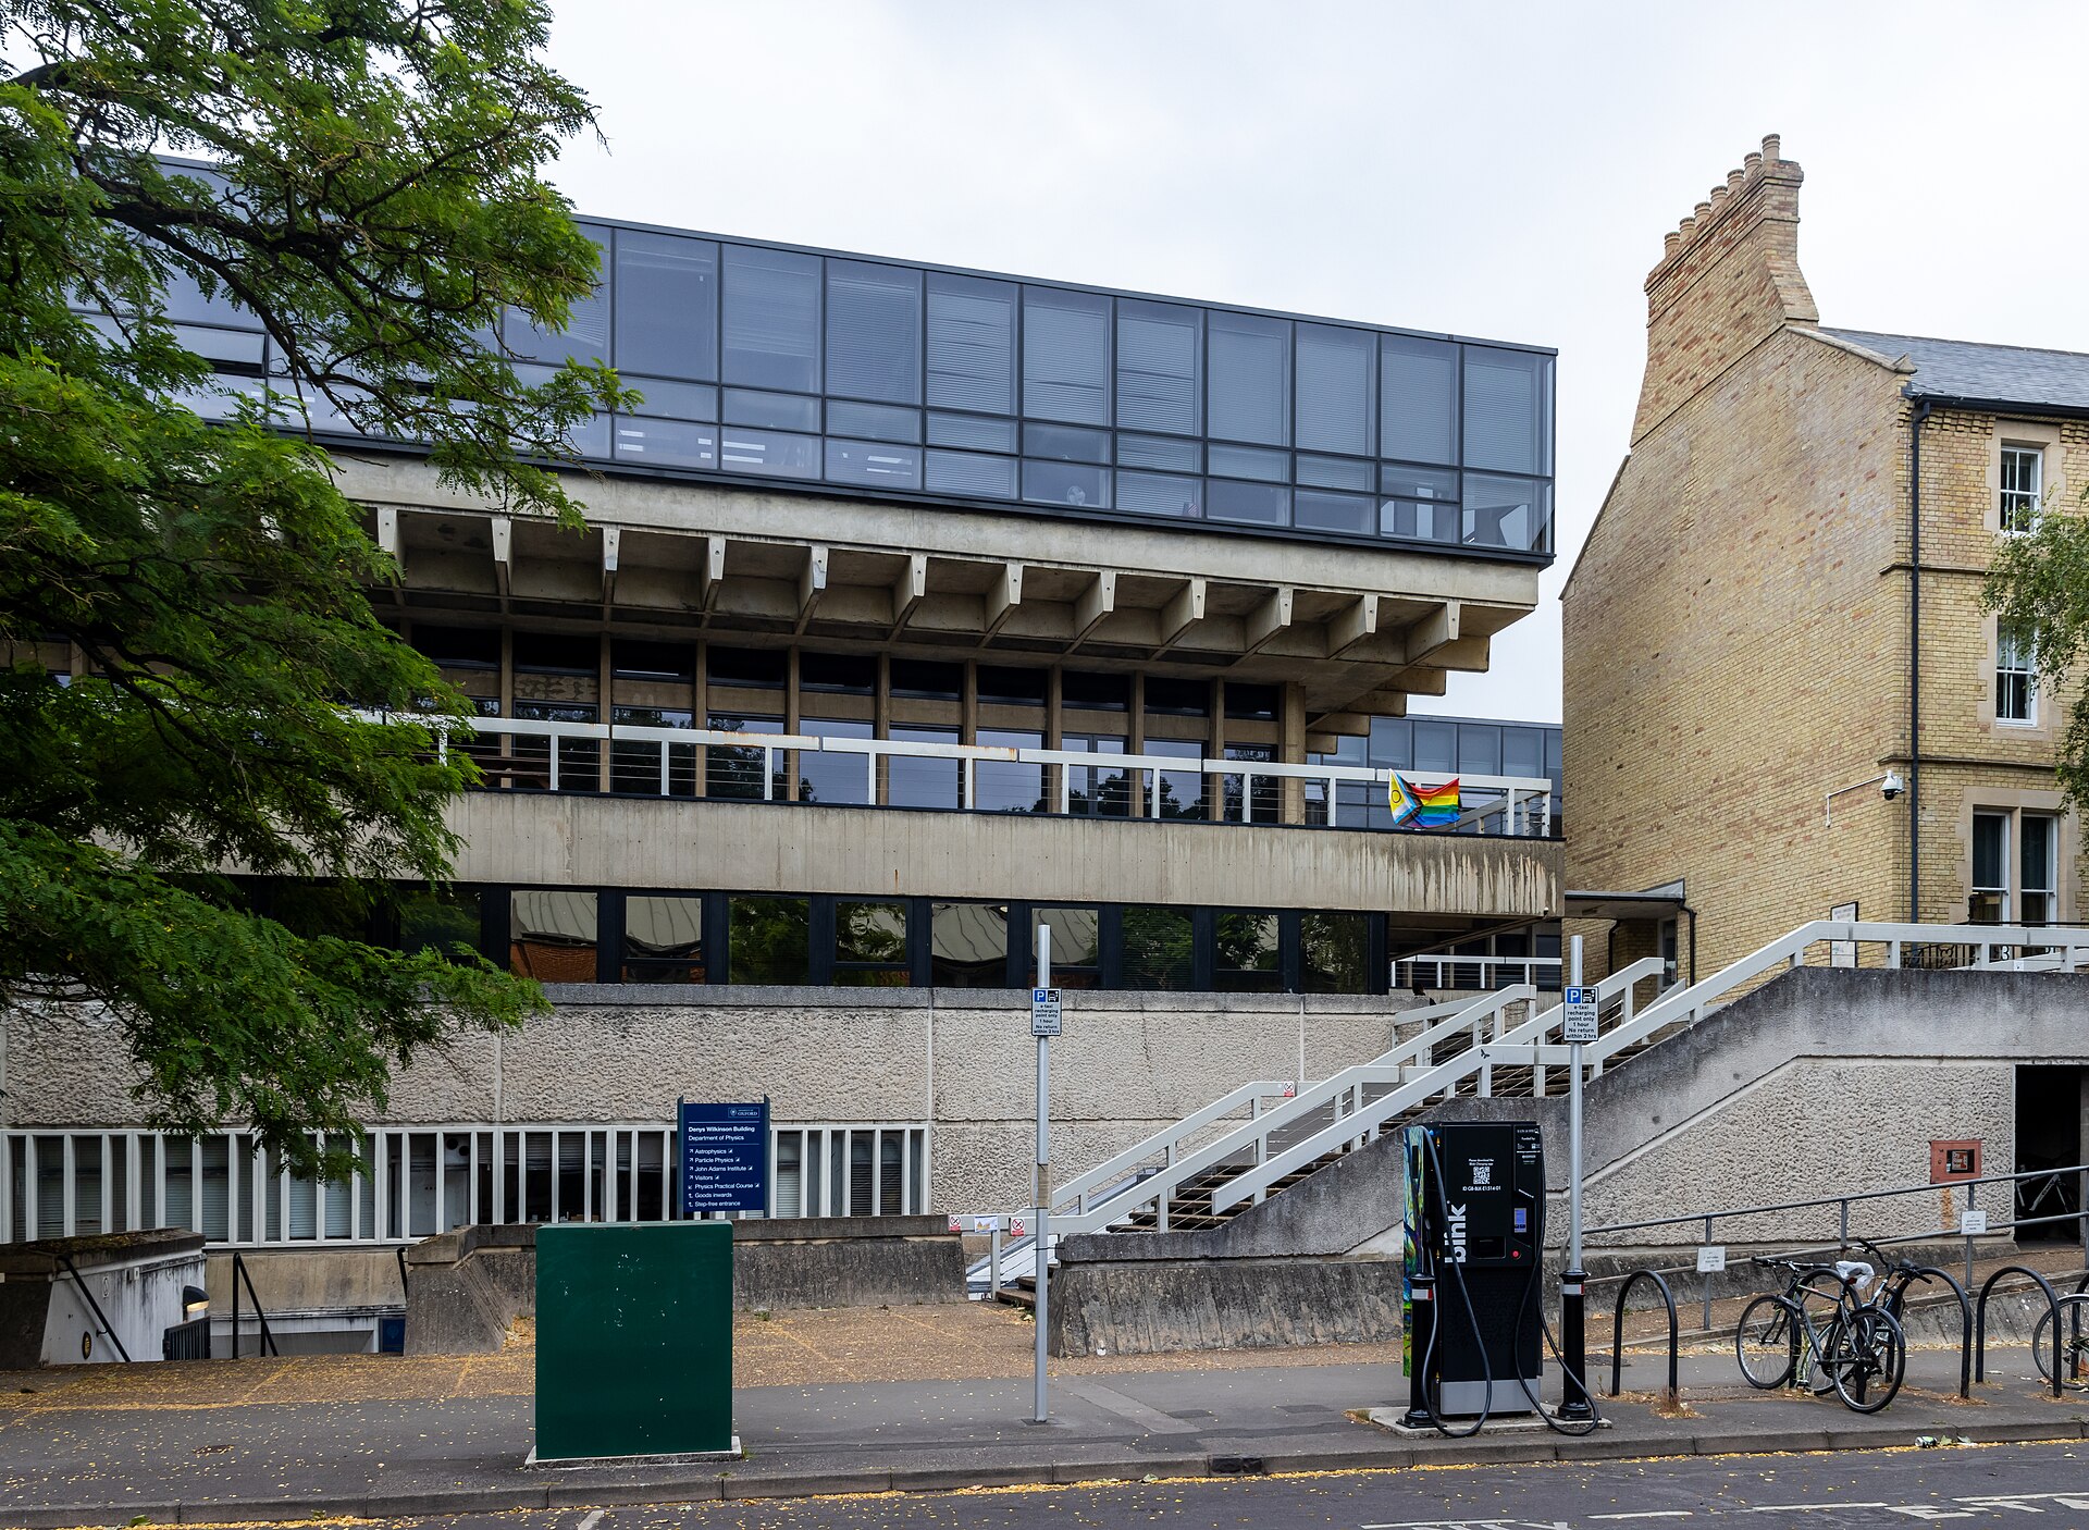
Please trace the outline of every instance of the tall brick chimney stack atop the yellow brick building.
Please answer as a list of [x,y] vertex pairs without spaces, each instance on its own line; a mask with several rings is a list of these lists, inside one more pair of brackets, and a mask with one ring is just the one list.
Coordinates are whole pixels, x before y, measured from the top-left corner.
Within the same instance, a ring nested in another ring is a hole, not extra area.
[[1663,238],[1646,276],[1646,376],[1632,439],[1784,324],[1817,324],[1799,272],[1799,182],[1776,134]]

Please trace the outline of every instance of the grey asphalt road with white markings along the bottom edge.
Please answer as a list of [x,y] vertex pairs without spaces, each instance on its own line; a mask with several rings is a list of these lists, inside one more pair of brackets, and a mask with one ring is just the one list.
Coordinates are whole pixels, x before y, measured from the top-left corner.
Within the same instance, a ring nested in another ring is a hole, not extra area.
[[[1730,1530],[2089,1526],[2089,1446],[2005,1444],[1596,1465],[1410,1467],[1239,1482],[996,1488],[393,1522],[428,1530]],[[1744,1520],[1738,1515],[1746,1515]]]

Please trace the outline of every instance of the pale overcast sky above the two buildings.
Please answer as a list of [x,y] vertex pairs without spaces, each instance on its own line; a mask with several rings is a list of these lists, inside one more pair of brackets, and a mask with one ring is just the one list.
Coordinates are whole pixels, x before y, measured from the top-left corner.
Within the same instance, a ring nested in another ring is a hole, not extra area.
[[2083,4],[589,0],[589,213],[1554,345],[1558,562],[1416,711],[1558,721],[1661,236],[1763,134],[1822,320],[2089,351]]

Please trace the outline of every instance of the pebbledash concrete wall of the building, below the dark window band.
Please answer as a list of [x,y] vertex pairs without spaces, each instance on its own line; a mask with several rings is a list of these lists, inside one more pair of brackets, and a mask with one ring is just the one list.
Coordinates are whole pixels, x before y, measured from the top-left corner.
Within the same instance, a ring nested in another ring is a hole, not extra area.
[[[771,1097],[777,1125],[928,1122],[930,1206],[1011,1210],[1034,1160],[1028,995],[971,989],[551,984],[556,1012],[399,1072],[374,1125],[668,1122],[677,1095]],[[1412,995],[1067,993],[1053,1162],[1080,1173],[1249,1079],[1322,1079],[1391,1045]],[[6,1018],[8,1127],[136,1120],[107,1022]]]

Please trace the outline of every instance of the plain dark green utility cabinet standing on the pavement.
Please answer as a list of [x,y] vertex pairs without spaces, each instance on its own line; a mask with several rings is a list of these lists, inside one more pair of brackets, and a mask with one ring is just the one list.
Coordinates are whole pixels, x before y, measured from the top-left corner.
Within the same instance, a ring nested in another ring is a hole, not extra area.
[[733,1451],[731,1223],[537,1229],[537,1461]]

